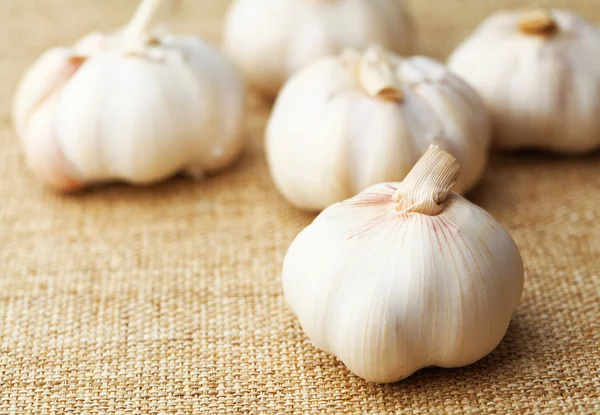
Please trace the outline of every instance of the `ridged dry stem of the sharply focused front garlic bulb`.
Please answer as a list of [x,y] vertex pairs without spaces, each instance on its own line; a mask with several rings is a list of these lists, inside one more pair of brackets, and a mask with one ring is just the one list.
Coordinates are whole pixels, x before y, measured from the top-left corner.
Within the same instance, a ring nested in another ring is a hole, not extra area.
[[396,210],[437,215],[443,209],[440,203],[458,179],[458,171],[458,162],[450,153],[429,146],[392,195],[392,200],[398,203]]

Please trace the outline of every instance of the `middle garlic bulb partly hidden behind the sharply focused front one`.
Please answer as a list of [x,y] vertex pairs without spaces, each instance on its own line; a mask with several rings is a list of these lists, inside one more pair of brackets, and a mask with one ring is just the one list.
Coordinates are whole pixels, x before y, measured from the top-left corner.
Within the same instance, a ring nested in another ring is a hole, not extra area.
[[456,190],[464,192],[483,174],[489,142],[484,105],[465,82],[433,59],[401,58],[375,46],[296,73],[266,131],[275,185],[310,210],[401,180],[430,144],[459,160]]

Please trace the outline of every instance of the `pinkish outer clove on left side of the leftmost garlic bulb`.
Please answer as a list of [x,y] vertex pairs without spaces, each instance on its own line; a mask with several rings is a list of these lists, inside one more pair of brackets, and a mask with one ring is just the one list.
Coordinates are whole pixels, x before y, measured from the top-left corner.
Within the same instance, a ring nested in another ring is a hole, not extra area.
[[49,186],[62,191],[85,187],[68,167],[54,128],[55,102],[62,87],[85,58],[54,48],[27,71],[15,98],[13,115],[28,167]]

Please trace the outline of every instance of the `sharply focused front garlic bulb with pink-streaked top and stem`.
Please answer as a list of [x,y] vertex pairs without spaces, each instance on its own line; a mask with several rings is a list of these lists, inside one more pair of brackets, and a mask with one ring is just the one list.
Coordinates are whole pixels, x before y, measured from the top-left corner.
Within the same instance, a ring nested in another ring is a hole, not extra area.
[[457,172],[432,147],[403,182],[325,209],[285,256],[283,290],[302,328],[366,380],[468,365],[506,333],[521,257],[498,222],[450,192]]

